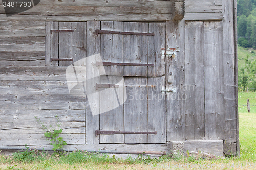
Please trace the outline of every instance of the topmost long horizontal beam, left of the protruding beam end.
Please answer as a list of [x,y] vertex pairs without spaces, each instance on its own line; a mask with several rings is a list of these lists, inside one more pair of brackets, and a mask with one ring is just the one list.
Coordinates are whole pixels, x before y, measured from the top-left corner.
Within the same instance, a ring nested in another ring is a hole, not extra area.
[[[103,2],[103,1],[102,1]],[[126,2],[126,3],[124,3]],[[92,15],[92,14],[170,14],[172,13],[170,9],[170,1],[112,1],[112,6],[108,5],[99,6],[96,5],[88,6],[86,4],[73,3],[70,6],[60,6],[59,4],[54,6],[52,4],[42,5],[38,4],[35,7],[24,11],[20,14],[30,14],[30,15]],[[108,4],[110,4],[108,2]],[[17,10],[14,8],[13,10]],[[9,11],[8,11],[9,12]],[[11,12],[11,11],[10,11]],[[9,12],[9,13],[10,13]],[[14,11],[16,12],[16,11]],[[1,14],[5,14],[4,8],[0,9]]]

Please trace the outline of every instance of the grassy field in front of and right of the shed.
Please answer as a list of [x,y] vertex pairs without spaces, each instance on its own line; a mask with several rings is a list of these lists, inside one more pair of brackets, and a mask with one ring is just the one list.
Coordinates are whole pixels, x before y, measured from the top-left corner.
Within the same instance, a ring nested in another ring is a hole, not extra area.
[[[256,93],[239,93],[239,105],[256,105]],[[256,169],[256,107],[239,106],[240,157],[203,159],[194,157],[161,157],[149,159],[118,159],[109,155],[85,152],[55,153],[53,155],[24,151],[14,156],[0,155],[0,169]]]

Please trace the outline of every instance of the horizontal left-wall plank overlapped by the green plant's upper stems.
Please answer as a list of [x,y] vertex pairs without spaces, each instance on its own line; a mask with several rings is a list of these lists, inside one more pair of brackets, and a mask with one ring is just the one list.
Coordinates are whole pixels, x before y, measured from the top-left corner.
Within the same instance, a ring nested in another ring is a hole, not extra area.
[[[35,117],[48,127],[50,124],[55,128],[58,115],[63,133],[85,133],[85,110],[1,110],[0,129],[28,129],[34,133],[42,133],[41,124]],[[70,130],[72,129],[72,130]]]

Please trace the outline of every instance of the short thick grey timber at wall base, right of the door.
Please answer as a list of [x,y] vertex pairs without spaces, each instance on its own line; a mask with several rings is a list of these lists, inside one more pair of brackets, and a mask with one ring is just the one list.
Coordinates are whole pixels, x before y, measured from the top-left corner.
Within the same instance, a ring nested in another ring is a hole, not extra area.
[[184,154],[189,152],[198,152],[213,154],[223,157],[223,141],[222,140],[195,140],[184,141]]

